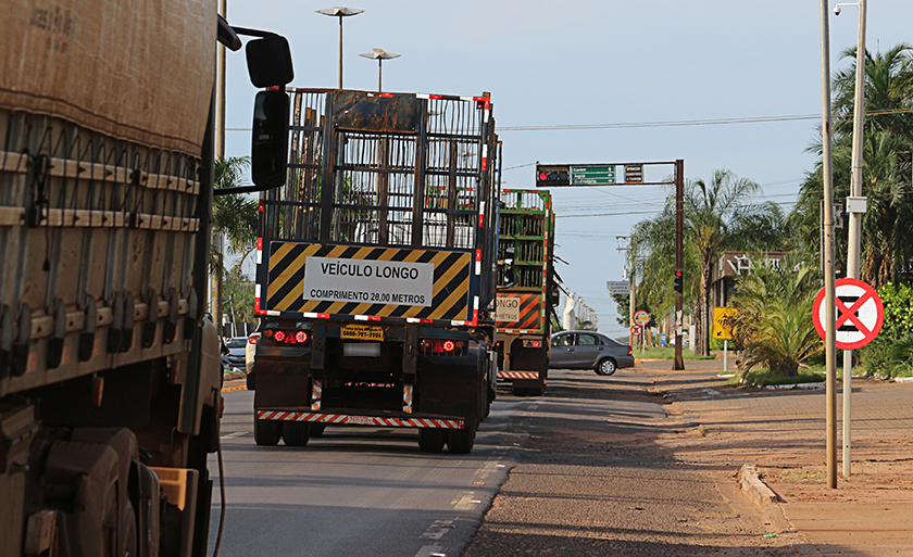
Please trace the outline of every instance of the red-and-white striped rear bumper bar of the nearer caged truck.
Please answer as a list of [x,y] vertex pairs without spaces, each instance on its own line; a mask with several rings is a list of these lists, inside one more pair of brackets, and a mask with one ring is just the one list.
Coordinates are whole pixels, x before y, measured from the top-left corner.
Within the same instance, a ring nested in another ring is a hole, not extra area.
[[463,429],[465,420],[453,416],[434,414],[410,414],[390,416],[385,413],[337,414],[327,412],[302,412],[299,408],[261,408],[257,419],[276,421],[308,421],[332,426],[376,426],[388,428]]

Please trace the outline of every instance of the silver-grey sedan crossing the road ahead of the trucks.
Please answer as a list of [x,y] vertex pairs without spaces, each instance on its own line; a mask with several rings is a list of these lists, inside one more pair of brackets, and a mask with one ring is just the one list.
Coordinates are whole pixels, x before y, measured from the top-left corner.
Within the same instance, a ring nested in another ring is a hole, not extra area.
[[563,331],[552,334],[549,369],[592,369],[611,376],[620,367],[633,367],[630,346],[591,331]]

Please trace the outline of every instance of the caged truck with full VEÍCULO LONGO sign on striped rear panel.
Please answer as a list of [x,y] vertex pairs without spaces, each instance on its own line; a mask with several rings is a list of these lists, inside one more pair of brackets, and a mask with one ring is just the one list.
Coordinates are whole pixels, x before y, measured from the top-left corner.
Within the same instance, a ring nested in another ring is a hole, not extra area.
[[372,426],[471,452],[496,381],[489,96],[290,94],[289,179],[261,197],[257,444]]

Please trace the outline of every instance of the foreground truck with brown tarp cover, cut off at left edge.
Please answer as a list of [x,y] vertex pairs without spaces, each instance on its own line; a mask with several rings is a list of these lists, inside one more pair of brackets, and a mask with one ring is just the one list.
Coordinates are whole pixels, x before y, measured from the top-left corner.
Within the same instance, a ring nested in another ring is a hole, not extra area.
[[215,1],[3,4],[4,557],[207,553],[216,37]]

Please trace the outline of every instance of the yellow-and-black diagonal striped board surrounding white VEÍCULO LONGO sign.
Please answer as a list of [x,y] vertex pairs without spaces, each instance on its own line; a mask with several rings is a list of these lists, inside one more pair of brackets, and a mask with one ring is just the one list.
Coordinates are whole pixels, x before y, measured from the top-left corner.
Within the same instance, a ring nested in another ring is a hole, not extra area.
[[[264,252],[267,276],[265,292],[260,293],[262,296],[260,306],[262,313],[268,312],[273,315],[289,316],[295,314],[327,314],[433,320],[472,319],[471,273],[473,258],[468,251],[271,241],[268,246],[264,246]],[[435,266],[432,305],[430,307],[424,307],[307,300],[304,298],[304,262],[311,256],[430,263]],[[265,300],[265,304],[263,304],[263,300]]]

